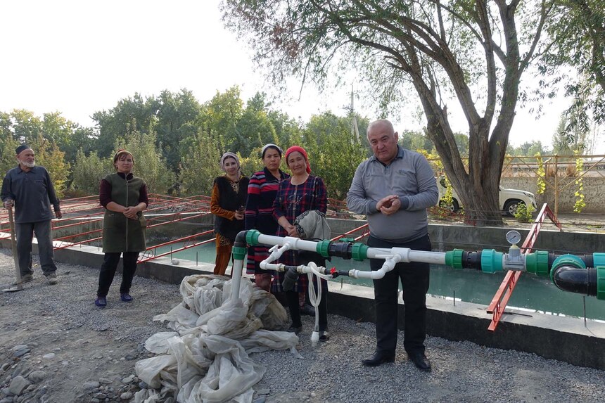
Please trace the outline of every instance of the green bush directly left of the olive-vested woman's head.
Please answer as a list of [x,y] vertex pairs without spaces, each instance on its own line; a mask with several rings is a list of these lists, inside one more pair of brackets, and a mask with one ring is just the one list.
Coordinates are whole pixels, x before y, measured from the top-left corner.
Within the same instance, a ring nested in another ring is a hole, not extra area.
[[80,195],[94,195],[98,193],[98,184],[107,174],[115,172],[113,160],[99,158],[97,153],[88,156],[78,150],[73,167],[71,188]]

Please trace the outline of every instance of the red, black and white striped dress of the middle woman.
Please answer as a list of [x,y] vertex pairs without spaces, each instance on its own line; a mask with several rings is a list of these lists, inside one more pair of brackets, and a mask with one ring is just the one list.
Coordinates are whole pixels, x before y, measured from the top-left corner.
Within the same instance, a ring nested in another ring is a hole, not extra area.
[[[289,178],[286,172],[279,171],[281,179]],[[248,183],[248,200],[246,201],[246,217],[244,225],[246,230],[257,229],[265,235],[275,235],[279,224],[273,218],[273,201],[279,178],[273,176],[269,169],[256,172],[250,177]],[[248,261],[246,262],[247,274],[272,273],[271,270],[262,270],[260,262],[269,257],[267,246],[252,246],[248,248]]]

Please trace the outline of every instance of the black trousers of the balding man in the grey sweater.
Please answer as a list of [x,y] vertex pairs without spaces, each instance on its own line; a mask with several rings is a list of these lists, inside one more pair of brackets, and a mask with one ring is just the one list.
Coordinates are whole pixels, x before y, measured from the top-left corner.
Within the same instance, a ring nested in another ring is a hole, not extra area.
[[[407,243],[392,243],[370,236],[371,248],[410,248],[431,250],[428,234]],[[382,259],[371,259],[370,268],[375,271],[384,264]],[[397,347],[397,298],[399,281],[402,283],[405,304],[404,342],[408,353],[424,354],[426,338],[426,292],[429,280],[428,263],[397,263],[382,279],[374,280],[376,306],[376,351],[395,354]]]

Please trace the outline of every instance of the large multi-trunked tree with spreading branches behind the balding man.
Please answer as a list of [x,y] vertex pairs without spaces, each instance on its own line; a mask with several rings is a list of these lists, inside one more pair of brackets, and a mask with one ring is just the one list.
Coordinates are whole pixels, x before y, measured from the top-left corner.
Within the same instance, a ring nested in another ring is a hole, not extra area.
[[[376,98],[405,96],[411,85],[465,211],[483,223],[502,222],[498,186],[519,82],[550,10],[546,0],[223,2],[227,27],[250,39],[276,83],[321,83],[331,61],[360,60]],[[469,127],[468,171],[448,120],[454,97]]]

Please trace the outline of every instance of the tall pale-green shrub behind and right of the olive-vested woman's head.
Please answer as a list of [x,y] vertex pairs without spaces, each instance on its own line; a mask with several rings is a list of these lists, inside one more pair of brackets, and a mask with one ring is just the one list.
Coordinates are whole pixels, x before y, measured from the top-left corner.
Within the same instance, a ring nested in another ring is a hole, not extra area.
[[113,154],[120,148],[130,151],[134,156],[133,172],[144,179],[148,192],[167,194],[174,186],[175,175],[168,169],[160,149],[155,147],[155,139],[155,134],[133,132],[127,139],[116,140]]

